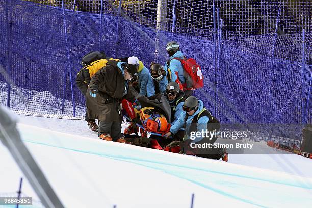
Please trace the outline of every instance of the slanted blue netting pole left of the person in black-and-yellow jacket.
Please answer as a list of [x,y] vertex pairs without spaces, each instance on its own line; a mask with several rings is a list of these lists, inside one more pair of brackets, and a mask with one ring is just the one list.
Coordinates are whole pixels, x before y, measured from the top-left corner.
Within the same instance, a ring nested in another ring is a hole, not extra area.
[[[69,79],[70,79],[73,116],[76,117],[75,96],[73,93],[72,74],[71,74],[72,66],[71,66],[71,62],[70,62],[70,54],[69,54],[69,46],[68,46],[68,38],[67,38],[67,25],[66,25],[66,20],[65,20],[64,0],[62,0],[62,9],[63,9],[63,22],[64,22],[65,41],[66,41],[66,55],[67,55],[67,62],[68,62],[68,66],[69,66],[68,71],[69,71]],[[64,82],[64,90],[65,89],[66,89],[66,82]],[[64,105],[65,105],[65,96],[63,97],[63,103],[62,103],[63,111],[64,111]]]

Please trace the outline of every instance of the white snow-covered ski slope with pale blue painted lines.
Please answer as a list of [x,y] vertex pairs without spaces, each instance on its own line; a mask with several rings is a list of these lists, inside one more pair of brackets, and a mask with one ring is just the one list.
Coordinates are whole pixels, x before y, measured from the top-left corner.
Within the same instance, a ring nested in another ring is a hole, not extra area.
[[[223,162],[99,140],[82,120],[17,117],[65,207],[190,207],[192,194],[196,208],[312,204],[312,160],[299,155],[230,154]],[[23,177],[23,194],[39,200],[1,143],[0,162],[0,197],[16,193]]]

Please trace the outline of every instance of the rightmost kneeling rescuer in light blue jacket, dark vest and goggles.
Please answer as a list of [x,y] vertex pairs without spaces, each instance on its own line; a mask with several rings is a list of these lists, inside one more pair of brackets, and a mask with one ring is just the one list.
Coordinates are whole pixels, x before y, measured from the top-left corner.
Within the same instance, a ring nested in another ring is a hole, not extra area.
[[194,96],[190,96],[185,100],[182,108],[184,112],[180,114],[179,119],[171,126],[170,131],[165,136],[174,135],[184,127],[186,135],[183,144],[180,144],[181,153],[218,160],[222,158],[223,161],[228,161],[225,148],[215,148],[213,145],[211,148],[196,148],[197,145],[213,144],[217,140],[217,136],[209,138],[196,134],[195,139],[191,137],[194,136],[194,132],[205,132],[206,130],[212,132],[220,129],[220,122],[204,108],[203,102]]

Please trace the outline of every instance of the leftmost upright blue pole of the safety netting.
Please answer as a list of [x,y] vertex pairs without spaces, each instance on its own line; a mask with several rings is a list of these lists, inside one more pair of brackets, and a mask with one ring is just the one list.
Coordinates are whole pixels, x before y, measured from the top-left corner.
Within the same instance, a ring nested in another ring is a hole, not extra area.
[[[12,51],[11,51],[11,37],[12,37],[12,2],[10,2],[10,16],[9,16],[9,8],[8,8],[8,1],[5,3],[6,5],[6,22],[7,22],[7,73],[10,76],[11,75],[11,66],[12,66]],[[9,77],[8,77],[9,78]],[[8,89],[7,89],[7,106],[10,108],[10,93],[11,93],[11,85],[10,82],[8,82]]]

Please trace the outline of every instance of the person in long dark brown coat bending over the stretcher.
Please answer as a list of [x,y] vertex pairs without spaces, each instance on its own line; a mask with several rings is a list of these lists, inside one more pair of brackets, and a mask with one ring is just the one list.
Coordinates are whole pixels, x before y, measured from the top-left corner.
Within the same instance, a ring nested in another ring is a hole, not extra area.
[[98,137],[106,141],[125,143],[121,137],[121,99],[135,100],[129,81],[131,74],[126,62],[110,59],[91,79],[87,93],[87,111],[95,112],[100,120]]

